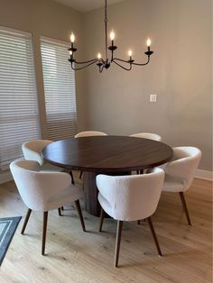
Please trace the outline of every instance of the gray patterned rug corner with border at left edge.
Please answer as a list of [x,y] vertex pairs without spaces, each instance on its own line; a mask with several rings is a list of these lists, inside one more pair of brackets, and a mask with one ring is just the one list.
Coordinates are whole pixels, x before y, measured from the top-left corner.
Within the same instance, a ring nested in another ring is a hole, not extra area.
[[5,253],[21,218],[21,216],[0,218],[0,265],[5,258]]

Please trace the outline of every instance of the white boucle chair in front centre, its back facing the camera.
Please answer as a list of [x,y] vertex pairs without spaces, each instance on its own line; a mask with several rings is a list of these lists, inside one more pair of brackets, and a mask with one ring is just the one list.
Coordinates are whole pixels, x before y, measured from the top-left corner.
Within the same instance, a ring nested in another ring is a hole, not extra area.
[[101,205],[99,232],[102,231],[105,212],[117,220],[115,267],[118,266],[123,221],[147,219],[157,251],[162,256],[151,215],[156,210],[164,180],[162,169],[150,174],[132,176],[97,175],[98,201]]

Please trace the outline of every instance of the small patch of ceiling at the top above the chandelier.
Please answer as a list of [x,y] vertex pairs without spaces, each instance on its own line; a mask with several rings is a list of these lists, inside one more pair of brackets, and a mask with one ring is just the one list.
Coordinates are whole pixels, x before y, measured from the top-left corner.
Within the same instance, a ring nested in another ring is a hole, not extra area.
[[[55,0],[60,4],[67,5],[79,12],[88,12],[105,5],[104,0]],[[108,0],[107,4],[114,4],[123,0]]]

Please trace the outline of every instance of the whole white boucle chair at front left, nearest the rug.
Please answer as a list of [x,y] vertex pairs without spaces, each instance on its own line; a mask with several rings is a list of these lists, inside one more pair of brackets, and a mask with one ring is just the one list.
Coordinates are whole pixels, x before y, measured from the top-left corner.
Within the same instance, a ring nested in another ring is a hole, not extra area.
[[79,198],[82,189],[72,185],[68,173],[40,171],[40,164],[33,160],[16,160],[10,164],[14,182],[28,211],[22,234],[32,210],[43,212],[42,255],[45,252],[48,211],[75,202],[83,231],[85,224],[81,214]]

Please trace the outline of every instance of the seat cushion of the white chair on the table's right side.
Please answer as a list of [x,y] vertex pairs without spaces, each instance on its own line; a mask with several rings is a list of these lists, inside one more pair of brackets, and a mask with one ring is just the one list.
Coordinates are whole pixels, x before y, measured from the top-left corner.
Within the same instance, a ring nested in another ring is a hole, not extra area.
[[166,175],[162,187],[163,192],[182,192],[184,191],[184,182],[181,178]]

